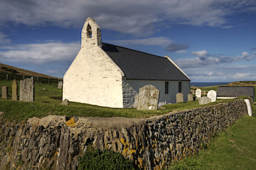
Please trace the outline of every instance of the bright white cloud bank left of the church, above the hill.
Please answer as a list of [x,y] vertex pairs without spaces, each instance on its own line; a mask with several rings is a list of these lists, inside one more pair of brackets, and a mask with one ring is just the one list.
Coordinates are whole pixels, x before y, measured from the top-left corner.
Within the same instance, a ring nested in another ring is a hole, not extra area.
[[13,63],[44,64],[70,61],[79,51],[78,42],[46,42],[1,47],[0,60]]

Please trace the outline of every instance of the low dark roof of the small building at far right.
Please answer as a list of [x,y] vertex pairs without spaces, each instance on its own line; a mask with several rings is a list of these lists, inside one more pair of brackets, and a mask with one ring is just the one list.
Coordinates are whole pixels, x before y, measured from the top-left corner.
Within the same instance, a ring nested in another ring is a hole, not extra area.
[[217,97],[254,97],[253,86],[219,86]]

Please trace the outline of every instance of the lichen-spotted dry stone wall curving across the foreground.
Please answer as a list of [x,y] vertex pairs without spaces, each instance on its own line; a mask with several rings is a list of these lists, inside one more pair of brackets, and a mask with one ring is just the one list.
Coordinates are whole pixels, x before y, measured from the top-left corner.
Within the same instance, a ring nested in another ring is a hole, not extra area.
[[31,118],[15,125],[0,114],[0,169],[77,169],[87,146],[110,148],[141,169],[159,169],[207,146],[247,114],[244,100],[147,119]]

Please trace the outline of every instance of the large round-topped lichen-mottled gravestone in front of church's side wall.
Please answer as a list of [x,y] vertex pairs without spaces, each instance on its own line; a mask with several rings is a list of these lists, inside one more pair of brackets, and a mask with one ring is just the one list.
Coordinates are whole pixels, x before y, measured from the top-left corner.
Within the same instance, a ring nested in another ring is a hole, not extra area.
[[137,110],[157,110],[159,89],[150,84],[143,86],[139,91]]

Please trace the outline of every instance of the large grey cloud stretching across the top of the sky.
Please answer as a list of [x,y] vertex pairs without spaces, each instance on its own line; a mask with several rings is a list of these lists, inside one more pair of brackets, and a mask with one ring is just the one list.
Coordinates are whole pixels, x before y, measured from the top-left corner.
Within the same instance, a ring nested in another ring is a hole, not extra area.
[[153,0],[1,0],[0,24],[11,21],[28,26],[81,27],[90,16],[103,28],[148,36],[172,23],[230,27],[225,26],[228,15],[255,9],[255,6],[256,2],[252,0],[172,0],[157,3]]

